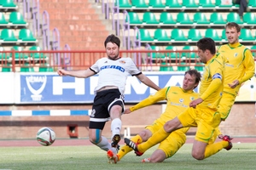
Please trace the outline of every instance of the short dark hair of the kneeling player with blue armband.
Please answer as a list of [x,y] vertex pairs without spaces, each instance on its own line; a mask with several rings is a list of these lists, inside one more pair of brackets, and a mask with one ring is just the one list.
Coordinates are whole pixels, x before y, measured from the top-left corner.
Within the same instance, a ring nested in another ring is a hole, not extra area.
[[196,46],[200,48],[203,52],[205,52],[208,49],[211,52],[211,54],[216,54],[215,42],[210,37],[201,38],[196,43]]

